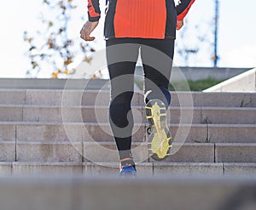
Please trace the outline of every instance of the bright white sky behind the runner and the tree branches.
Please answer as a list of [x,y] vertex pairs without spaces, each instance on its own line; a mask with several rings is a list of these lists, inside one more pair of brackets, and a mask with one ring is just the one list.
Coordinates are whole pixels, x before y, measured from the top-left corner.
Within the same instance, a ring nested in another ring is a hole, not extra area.
[[[79,3],[78,14],[85,16],[86,0],[75,0]],[[102,1],[102,6],[105,0]],[[42,0],[4,1],[0,8],[1,70],[0,77],[25,77],[29,68],[29,60],[24,55],[27,45],[23,42],[23,31],[38,28],[39,14],[42,11]],[[214,0],[196,0],[187,20],[201,25],[202,28],[212,24]],[[255,67],[256,66],[256,1],[255,0],[219,0],[219,37],[218,54],[220,67]],[[102,11],[103,12],[103,11]],[[77,34],[83,22],[74,21],[73,34]],[[95,31],[96,48],[104,48],[102,25]],[[209,29],[207,29],[209,30]],[[205,31],[204,31],[205,32]],[[209,32],[210,33],[210,32]],[[186,34],[188,38],[193,34]],[[177,40],[178,42],[178,40]],[[206,48],[202,53],[190,60],[190,65],[211,66],[208,58],[212,49]],[[210,52],[209,52],[210,51]],[[183,65],[176,60],[177,65]]]

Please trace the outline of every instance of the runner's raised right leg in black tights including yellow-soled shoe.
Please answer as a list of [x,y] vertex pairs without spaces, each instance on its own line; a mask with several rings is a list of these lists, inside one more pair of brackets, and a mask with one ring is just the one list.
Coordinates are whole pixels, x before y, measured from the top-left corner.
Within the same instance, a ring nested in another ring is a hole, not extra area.
[[171,103],[168,90],[172,71],[174,40],[143,40],[144,99],[150,128],[148,152],[155,160],[170,155],[172,135],[166,111]]

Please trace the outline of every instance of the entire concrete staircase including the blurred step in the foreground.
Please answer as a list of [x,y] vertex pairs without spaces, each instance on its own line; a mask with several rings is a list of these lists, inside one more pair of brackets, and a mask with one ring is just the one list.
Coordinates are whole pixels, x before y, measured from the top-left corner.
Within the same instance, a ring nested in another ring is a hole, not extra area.
[[1,209],[256,208],[256,94],[172,93],[175,143],[162,162],[148,157],[135,94],[138,173],[125,181],[108,100],[108,91],[0,89]]

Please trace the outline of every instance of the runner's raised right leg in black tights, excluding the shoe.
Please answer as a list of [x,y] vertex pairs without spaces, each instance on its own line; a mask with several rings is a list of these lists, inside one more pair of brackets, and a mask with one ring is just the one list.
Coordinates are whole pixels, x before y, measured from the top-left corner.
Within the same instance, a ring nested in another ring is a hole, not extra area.
[[147,104],[150,99],[160,99],[167,109],[171,103],[168,85],[172,71],[174,40],[146,39],[143,40],[141,51],[145,77],[145,103]]

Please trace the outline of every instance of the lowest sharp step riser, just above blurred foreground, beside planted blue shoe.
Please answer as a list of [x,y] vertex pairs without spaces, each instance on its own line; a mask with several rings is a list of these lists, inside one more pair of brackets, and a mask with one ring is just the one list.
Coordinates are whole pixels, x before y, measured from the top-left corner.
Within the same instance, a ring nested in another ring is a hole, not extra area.
[[[70,162],[2,162],[0,164],[1,176],[117,176],[119,162],[115,163],[70,163]],[[254,177],[255,163],[140,163],[137,164],[138,177],[163,176],[246,176]]]

